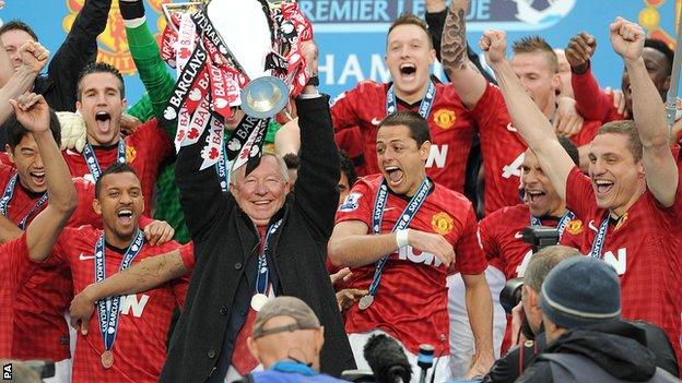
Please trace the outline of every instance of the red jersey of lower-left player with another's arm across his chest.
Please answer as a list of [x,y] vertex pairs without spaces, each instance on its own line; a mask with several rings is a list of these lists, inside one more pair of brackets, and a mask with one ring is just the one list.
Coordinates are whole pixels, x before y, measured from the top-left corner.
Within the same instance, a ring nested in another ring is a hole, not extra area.
[[[66,228],[55,246],[54,260],[71,268],[73,294],[95,282],[95,243],[102,230],[92,226]],[[133,264],[145,258],[180,249],[184,259],[193,251],[191,244],[170,241],[161,246],[144,244]],[[105,249],[106,275],[118,272],[124,254]],[[97,314],[90,320],[90,332],[79,334],[73,357],[73,381],[156,382],[166,356],[166,337],[176,303],[183,306],[188,279],[174,280],[143,294],[121,297],[118,333],[114,343],[114,366],[104,369],[101,356],[104,339]]]

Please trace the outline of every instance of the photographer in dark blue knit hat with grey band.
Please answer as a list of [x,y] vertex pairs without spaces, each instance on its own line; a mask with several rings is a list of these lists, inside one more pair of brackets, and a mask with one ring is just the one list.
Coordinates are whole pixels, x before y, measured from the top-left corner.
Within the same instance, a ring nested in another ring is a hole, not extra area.
[[517,382],[679,382],[657,367],[647,333],[621,320],[620,280],[604,262],[562,261],[539,301],[548,346]]

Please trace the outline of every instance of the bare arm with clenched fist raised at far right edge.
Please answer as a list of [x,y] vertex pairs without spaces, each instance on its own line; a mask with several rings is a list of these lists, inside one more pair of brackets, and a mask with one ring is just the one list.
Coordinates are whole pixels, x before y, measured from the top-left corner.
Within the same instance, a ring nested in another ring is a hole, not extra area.
[[647,187],[663,206],[672,206],[678,191],[678,167],[670,151],[666,111],[644,65],[644,29],[618,17],[609,27],[613,50],[623,57],[632,86],[633,117],[639,140]]

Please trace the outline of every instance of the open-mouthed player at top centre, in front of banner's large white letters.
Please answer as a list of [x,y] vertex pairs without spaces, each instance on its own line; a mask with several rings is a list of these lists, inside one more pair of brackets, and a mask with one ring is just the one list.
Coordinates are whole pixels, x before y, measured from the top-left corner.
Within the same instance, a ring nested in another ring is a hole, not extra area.
[[428,176],[461,193],[474,127],[452,85],[430,76],[435,58],[426,24],[411,14],[400,16],[386,40],[392,83],[361,82],[337,97],[331,116],[337,132],[358,127],[364,142],[362,173],[376,173],[381,167],[376,160],[378,124],[398,110],[419,112],[428,122],[433,140],[426,159]]

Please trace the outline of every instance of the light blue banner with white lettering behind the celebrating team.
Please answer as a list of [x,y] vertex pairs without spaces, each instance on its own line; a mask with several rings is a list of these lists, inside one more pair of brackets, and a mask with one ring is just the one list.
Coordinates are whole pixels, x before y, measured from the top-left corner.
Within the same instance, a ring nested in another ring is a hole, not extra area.
[[[2,20],[20,19],[31,25],[40,41],[56,51],[84,0],[7,0]],[[213,0],[244,1],[244,0]],[[153,32],[165,25],[161,3],[145,0]],[[314,23],[320,49],[321,89],[334,96],[362,80],[388,81],[384,64],[386,31],[402,12],[424,14],[424,0],[299,0]],[[593,70],[602,86],[620,87],[623,63],[609,45],[608,26],[616,16],[637,21],[650,36],[673,41],[675,14],[682,0],[471,0],[469,43],[477,47],[486,28],[505,29],[508,40],[539,34],[553,47],[565,47],[580,31],[597,37]],[[125,73],[127,98],[143,92],[128,53],[125,31],[114,0],[109,23],[99,36],[99,59]],[[440,75],[442,69],[434,69]]]

